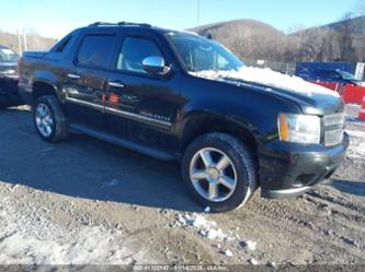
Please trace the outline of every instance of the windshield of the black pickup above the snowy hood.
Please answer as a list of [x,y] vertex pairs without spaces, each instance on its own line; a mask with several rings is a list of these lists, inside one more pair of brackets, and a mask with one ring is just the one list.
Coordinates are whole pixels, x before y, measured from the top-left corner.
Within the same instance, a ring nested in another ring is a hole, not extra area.
[[243,67],[233,54],[210,39],[193,34],[168,34],[189,72],[238,70]]

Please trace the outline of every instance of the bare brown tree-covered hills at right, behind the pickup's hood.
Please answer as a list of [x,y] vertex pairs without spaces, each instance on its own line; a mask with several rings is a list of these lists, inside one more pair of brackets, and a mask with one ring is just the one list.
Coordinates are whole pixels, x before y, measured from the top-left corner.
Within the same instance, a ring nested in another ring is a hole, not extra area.
[[350,17],[290,35],[254,20],[203,25],[191,31],[210,35],[244,60],[365,60],[365,16]]

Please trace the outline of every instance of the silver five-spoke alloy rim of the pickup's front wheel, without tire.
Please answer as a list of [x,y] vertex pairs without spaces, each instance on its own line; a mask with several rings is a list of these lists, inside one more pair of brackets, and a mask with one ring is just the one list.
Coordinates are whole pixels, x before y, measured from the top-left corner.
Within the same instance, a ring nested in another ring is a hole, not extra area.
[[190,179],[203,198],[223,202],[230,198],[237,186],[237,172],[223,151],[213,147],[199,150],[190,163]]

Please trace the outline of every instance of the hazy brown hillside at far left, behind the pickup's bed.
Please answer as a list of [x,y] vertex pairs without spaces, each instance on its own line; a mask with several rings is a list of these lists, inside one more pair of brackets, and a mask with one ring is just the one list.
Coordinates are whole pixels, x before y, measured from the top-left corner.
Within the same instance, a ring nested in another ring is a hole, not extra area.
[[[22,37],[21,42],[22,42],[22,47],[24,50],[23,37]],[[56,39],[45,38],[45,37],[42,37],[39,35],[35,35],[35,34],[26,35],[26,44],[27,44],[28,50],[47,50],[53,45],[55,45],[56,42],[57,42]],[[8,46],[13,51],[19,54],[18,35],[0,31],[0,44]]]

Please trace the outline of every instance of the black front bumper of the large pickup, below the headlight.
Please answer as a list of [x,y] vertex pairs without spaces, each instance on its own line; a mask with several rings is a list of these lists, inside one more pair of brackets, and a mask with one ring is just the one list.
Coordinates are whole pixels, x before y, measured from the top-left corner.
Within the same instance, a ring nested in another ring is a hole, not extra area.
[[345,133],[341,144],[324,147],[274,141],[260,152],[260,184],[264,198],[294,198],[328,179],[344,159],[349,147]]

